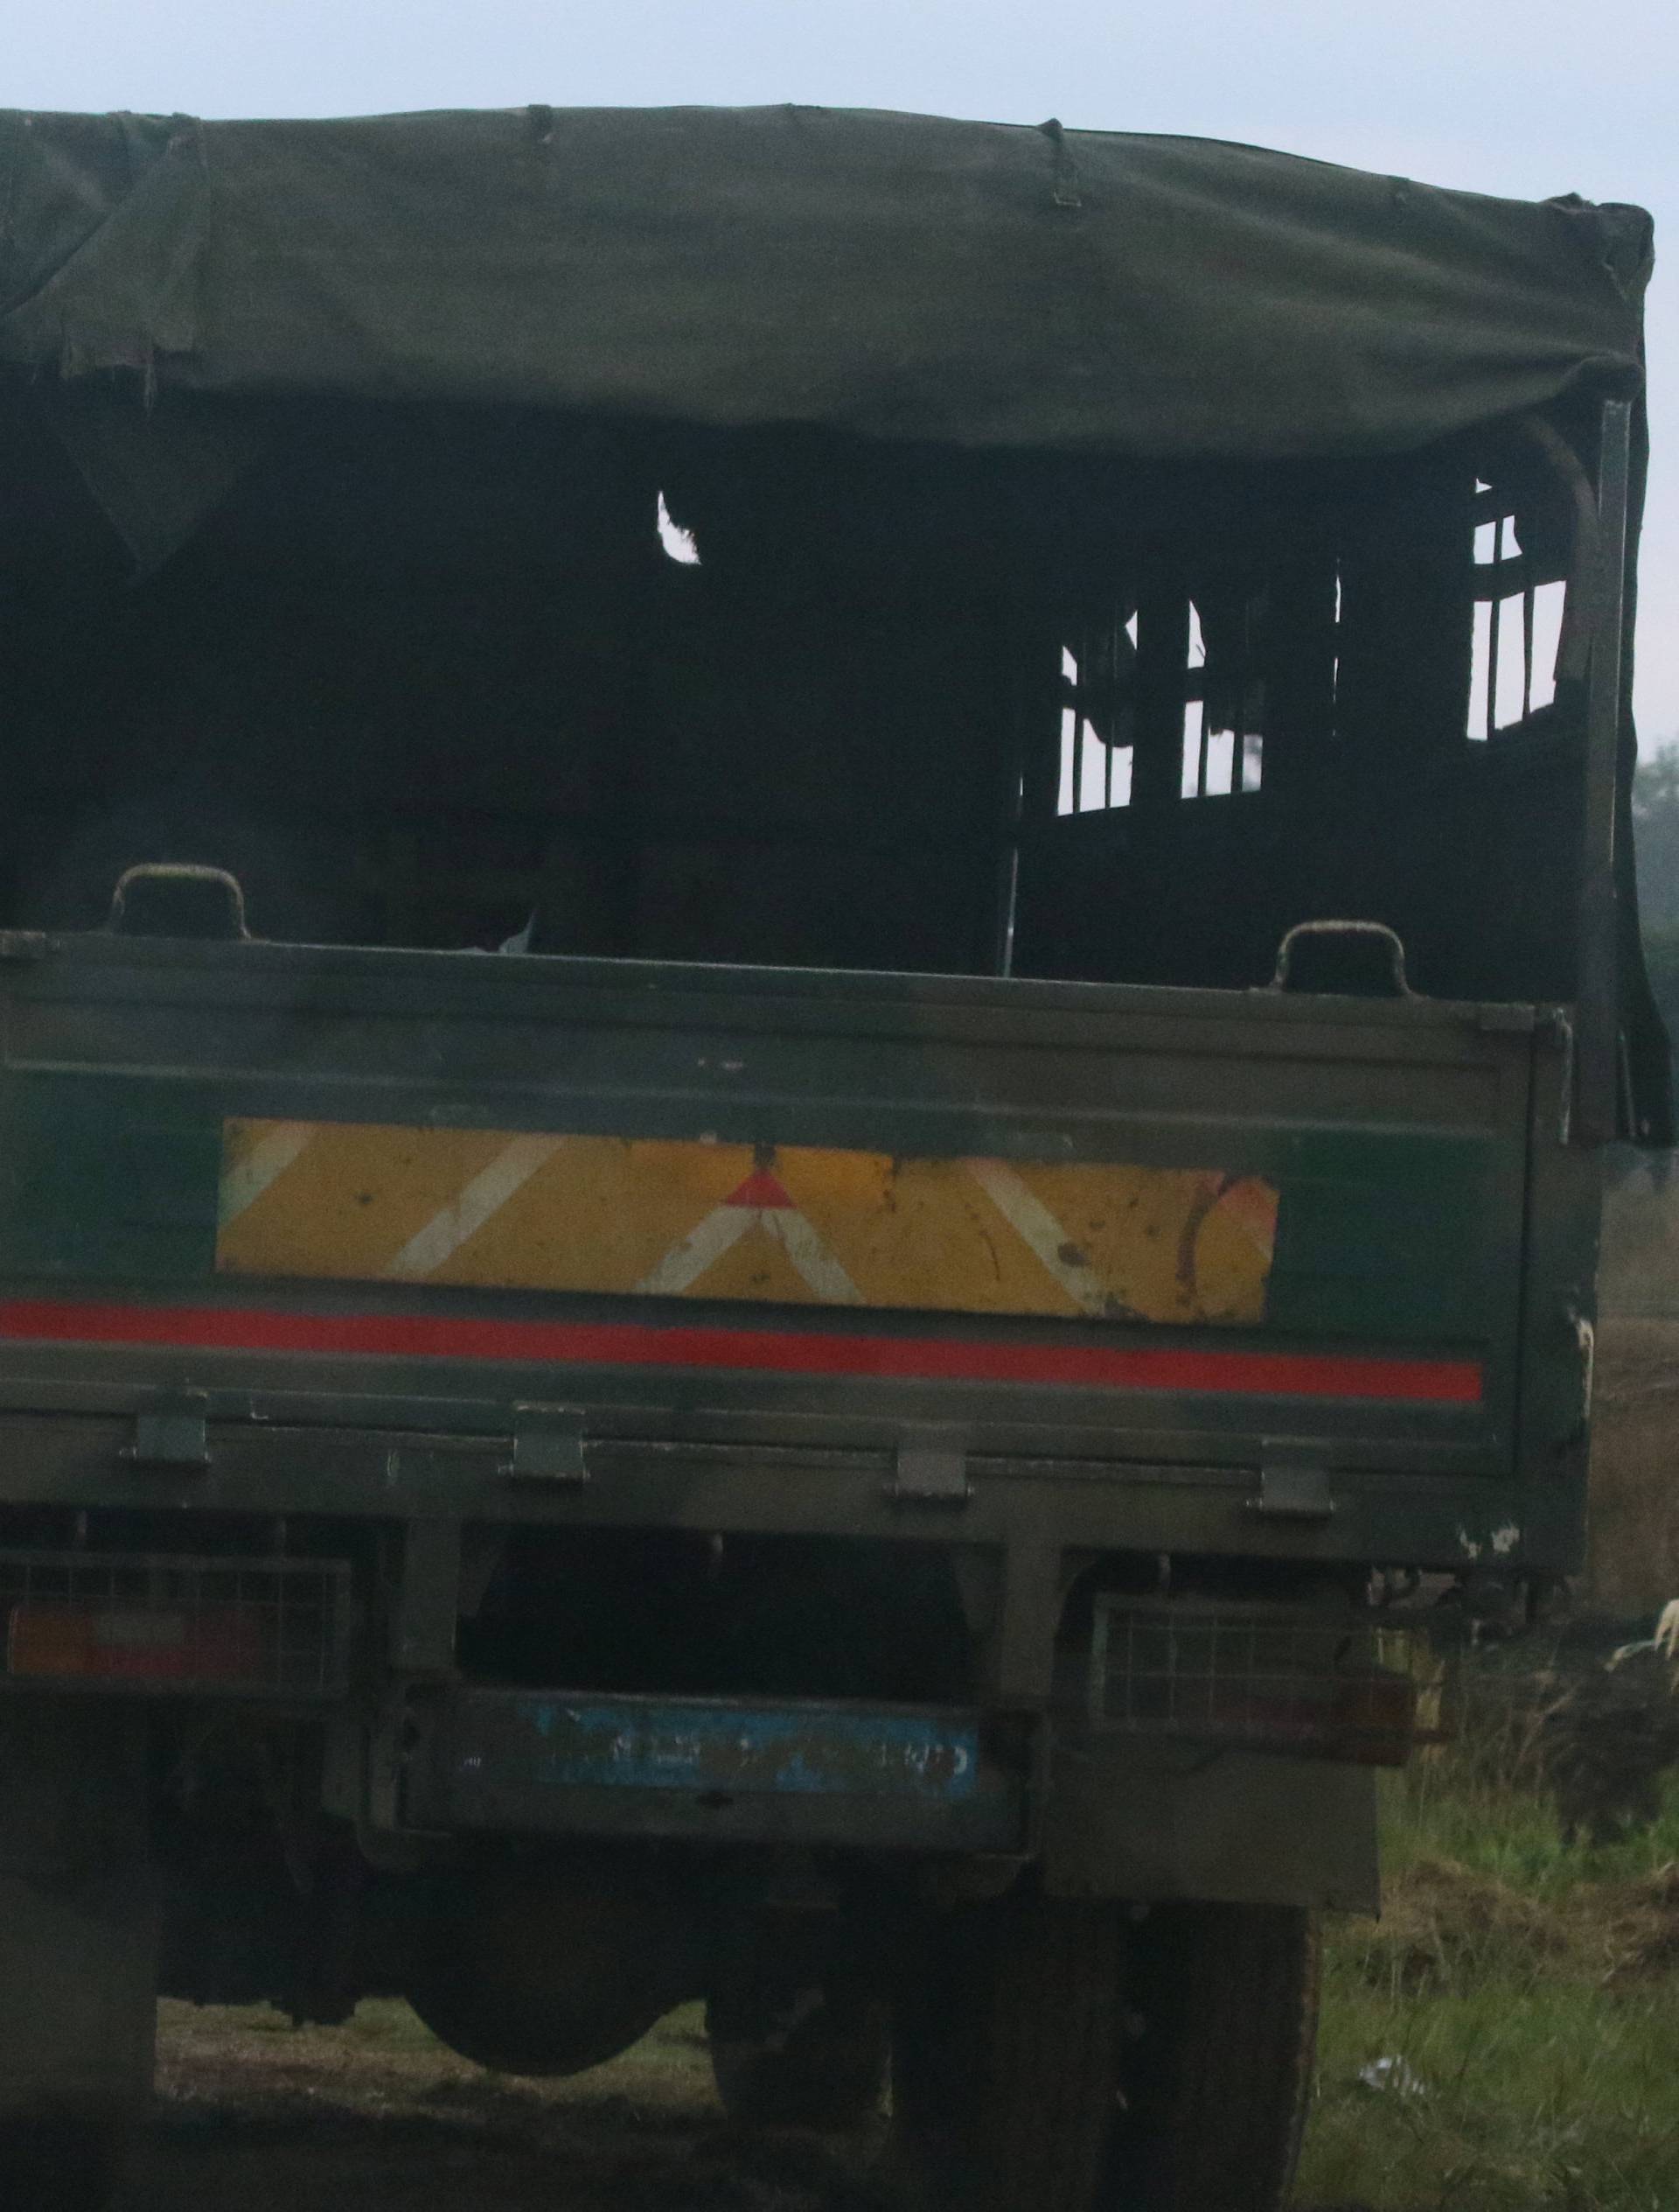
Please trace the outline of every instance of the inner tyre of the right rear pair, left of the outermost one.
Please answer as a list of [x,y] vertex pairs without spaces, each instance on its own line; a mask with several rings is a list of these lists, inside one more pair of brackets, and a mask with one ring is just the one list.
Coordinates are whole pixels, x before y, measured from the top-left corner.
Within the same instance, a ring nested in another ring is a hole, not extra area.
[[1095,2212],[1122,1958],[1124,1909],[1102,1902],[1022,1893],[938,1922],[891,2024],[887,2159],[911,2197]]

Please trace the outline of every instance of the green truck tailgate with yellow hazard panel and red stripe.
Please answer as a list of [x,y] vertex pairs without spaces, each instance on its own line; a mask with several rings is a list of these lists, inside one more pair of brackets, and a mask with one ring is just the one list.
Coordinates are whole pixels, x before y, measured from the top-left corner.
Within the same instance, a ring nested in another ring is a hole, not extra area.
[[0,1405],[1509,1473],[1524,1009],[2,942]]

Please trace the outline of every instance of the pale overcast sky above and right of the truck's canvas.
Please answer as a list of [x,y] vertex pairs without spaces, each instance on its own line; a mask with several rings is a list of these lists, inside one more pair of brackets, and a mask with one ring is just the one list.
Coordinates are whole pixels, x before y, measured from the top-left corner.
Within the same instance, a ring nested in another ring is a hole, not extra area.
[[[774,102],[1248,139],[1679,239],[1679,0],[0,0],[0,104]],[[1679,254],[1675,254],[1679,265]],[[1679,276],[1650,294],[1639,717],[1679,734]]]

